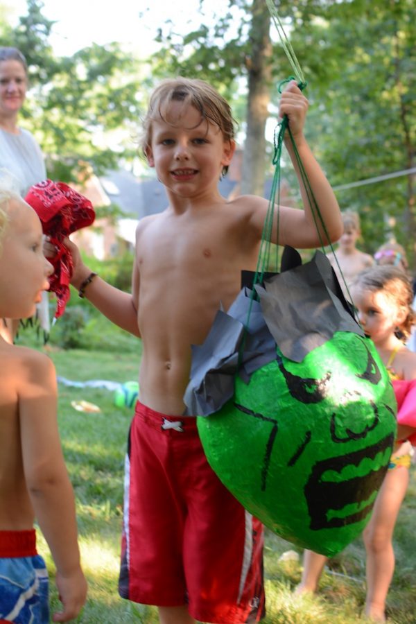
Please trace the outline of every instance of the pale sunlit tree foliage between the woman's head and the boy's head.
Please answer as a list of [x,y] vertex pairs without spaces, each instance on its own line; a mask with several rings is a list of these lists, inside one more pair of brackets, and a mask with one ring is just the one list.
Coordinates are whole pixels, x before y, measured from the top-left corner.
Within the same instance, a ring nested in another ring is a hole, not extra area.
[[[141,114],[140,64],[120,44],[92,44],[73,56],[57,57],[49,36],[53,22],[40,0],[28,0],[28,13],[12,29],[3,22],[1,44],[26,56],[30,90],[22,117],[46,155],[50,177],[70,182],[91,167],[96,173],[135,157]],[[97,141],[98,131],[105,139]],[[111,132],[121,134],[119,144]],[[123,132],[122,132],[123,131]]]

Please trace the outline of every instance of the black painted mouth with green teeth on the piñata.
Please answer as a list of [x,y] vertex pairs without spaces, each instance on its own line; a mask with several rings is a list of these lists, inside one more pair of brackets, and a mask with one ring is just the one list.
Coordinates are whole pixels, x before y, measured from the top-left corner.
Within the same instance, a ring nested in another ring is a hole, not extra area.
[[[372,494],[376,494],[381,487],[390,455],[386,457],[383,466],[374,467],[374,470],[370,468],[365,476],[357,474],[348,480],[331,480],[329,471],[340,474],[348,466],[355,466],[358,473],[358,467],[363,460],[374,462],[379,453],[392,450],[393,442],[394,435],[391,433],[371,447],[315,463],[304,487],[311,530],[353,524],[370,513],[375,501]],[[349,514],[345,514],[347,506],[352,508]]]

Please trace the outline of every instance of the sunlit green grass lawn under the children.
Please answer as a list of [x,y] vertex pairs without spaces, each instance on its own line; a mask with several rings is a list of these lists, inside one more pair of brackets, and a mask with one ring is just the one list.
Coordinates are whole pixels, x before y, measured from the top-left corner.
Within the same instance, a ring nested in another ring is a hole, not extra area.
[[[139,341],[122,352],[61,351],[49,354],[60,376],[74,381],[136,379]],[[71,401],[85,399],[100,413],[82,413]],[[153,607],[133,605],[119,598],[119,544],[123,504],[123,460],[131,410],[116,408],[112,392],[60,385],[59,423],[62,446],[76,492],[80,548],[89,582],[89,596],[78,622],[85,624],[157,623]],[[416,466],[395,532],[397,567],[388,596],[391,623],[416,623]],[[53,562],[39,537],[40,552],[53,576]],[[299,562],[280,562],[294,550]],[[300,580],[302,551],[270,531],[266,534],[266,608],[264,624],[349,624],[360,618],[365,600],[365,554],[361,539],[329,563],[315,598],[295,596]],[[52,605],[58,598],[51,580]]]

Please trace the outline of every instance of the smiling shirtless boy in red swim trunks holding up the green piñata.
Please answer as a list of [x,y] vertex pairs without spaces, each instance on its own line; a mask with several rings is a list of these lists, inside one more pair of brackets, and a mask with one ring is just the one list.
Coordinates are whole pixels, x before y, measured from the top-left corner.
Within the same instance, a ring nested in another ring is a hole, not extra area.
[[[336,198],[303,128],[308,102],[293,81],[280,114],[291,131],[331,241],[342,233]],[[140,396],[130,428],[119,591],[157,605],[162,624],[257,622],[263,614],[262,526],[207,465],[196,418],[184,417],[191,345],[255,270],[268,201],[227,201],[218,180],[234,153],[232,113],[202,80],[166,80],[153,92],[142,146],[168,207],[136,232],[132,293],[89,281],[76,246],[72,284],[107,318],[143,340]],[[293,156],[291,147],[288,146]],[[279,243],[320,245],[311,208],[281,207]]]

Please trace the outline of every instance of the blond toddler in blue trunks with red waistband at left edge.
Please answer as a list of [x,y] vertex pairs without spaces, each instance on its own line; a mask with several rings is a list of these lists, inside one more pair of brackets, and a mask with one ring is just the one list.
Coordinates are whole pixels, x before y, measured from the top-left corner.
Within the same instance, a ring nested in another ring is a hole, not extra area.
[[[33,315],[49,288],[35,211],[0,181],[0,318]],[[62,612],[75,618],[87,584],[80,568],[73,490],[60,447],[55,368],[0,336],[0,620],[49,623],[48,574],[35,518],[51,549]]]

